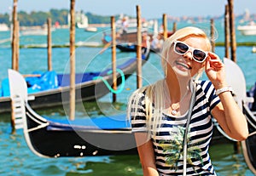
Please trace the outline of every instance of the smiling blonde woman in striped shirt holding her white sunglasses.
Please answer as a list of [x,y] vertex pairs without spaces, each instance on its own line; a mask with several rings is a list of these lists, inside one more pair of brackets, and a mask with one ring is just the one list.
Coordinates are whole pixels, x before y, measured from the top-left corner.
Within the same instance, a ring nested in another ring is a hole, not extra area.
[[[208,154],[212,116],[231,138],[247,139],[224,64],[210,51],[201,29],[176,31],[162,48],[165,78],[131,95],[128,115],[144,175],[216,175]],[[198,80],[203,70],[207,81]]]

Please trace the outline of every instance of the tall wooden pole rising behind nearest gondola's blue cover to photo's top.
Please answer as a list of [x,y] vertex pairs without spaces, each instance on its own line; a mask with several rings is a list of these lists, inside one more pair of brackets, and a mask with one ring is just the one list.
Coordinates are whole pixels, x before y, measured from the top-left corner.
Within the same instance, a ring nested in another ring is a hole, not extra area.
[[75,116],[75,0],[70,0],[70,93],[69,93],[69,119]]

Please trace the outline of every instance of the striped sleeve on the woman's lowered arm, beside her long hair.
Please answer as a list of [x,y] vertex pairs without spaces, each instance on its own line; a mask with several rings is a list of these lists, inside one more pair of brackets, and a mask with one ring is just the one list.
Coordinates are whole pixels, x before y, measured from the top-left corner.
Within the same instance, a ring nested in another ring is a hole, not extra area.
[[145,112],[145,94],[137,93],[131,96],[129,107],[131,108],[131,128],[132,132],[147,132],[147,118]]

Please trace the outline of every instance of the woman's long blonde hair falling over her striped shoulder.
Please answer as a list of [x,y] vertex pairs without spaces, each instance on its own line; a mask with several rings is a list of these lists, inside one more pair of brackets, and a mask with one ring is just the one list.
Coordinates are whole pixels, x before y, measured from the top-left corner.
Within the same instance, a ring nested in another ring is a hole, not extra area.
[[[169,50],[172,48],[172,43],[176,40],[182,40],[185,37],[202,37],[206,39],[207,48],[210,51],[211,50],[211,43],[209,39],[207,38],[207,34],[202,31],[201,29],[197,27],[184,27],[180,30],[177,30],[174,34],[172,34],[171,37],[167,38],[161,52],[161,64],[163,67],[163,70],[165,72],[165,75],[167,74],[167,58],[169,57]],[[200,75],[200,73],[198,73]],[[197,80],[199,77],[196,77]],[[160,80],[158,82],[155,82],[152,85],[148,85],[144,88],[139,88],[137,91],[135,91],[130,98],[130,102],[127,106],[127,115],[128,117],[131,116],[131,108],[135,111],[135,114],[137,113],[137,108],[139,108],[139,101],[141,100],[142,94],[145,92],[145,115],[148,120],[148,132],[149,127],[153,127],[154,134],[157,131],[157,128],[160,127],[161,122],[161,116],[164,111],[165,103],[164,103],[164,97],[165,97],[165,80]],[[189,85],[191,86],[191,85]],[[154,105],[154,111],[153,110]],[[151,117],[153,117],[153,121],[149,120]]]

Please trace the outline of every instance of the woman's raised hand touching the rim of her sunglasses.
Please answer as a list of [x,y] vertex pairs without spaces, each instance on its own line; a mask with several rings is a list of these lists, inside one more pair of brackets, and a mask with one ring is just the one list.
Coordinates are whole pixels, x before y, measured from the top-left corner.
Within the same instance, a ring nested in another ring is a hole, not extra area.
[[227,86],[224,63],[218,58],[217,54],[208,53],[206,60],[207,77],[212,82],[214,88],[224,88]]

